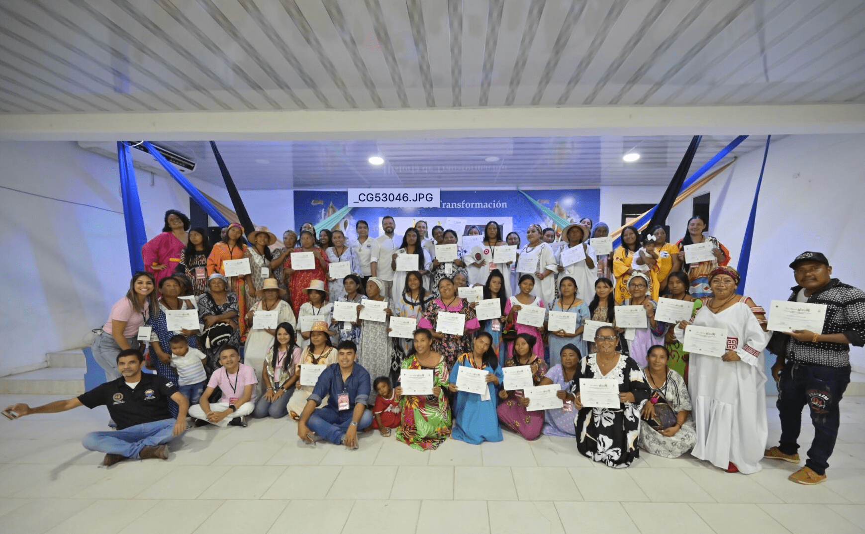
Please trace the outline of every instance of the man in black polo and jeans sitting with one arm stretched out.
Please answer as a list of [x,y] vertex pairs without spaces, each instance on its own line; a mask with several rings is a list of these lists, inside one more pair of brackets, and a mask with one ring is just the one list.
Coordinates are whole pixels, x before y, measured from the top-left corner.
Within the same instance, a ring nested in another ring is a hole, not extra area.
[[[120,351],[117,355],[120,378],[78,397],[35,408],[27,404],[13,404],[3,414],[14,419],[30,414],[72,410],[82,405],[93,409],[104,404],[117,423],[117,430],[91,432],[81,442],[84,448],[106,454],[102,465],[112,466],[128,458],[168,460],[169,450],[165,443],[186,429],[189,402],[177,390],[176,384],[156,374],[141,372],[143,361],[144,358],[134,348]],[[169,399],[179,408],[176,419],[170,416]]]

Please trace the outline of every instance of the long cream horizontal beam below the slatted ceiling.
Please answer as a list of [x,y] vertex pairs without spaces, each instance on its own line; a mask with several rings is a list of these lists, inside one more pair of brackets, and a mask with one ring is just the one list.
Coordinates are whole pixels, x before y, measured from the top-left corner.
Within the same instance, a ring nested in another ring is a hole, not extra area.
[[3,141],[297,141],[423,137],[865,133],[865,104],[581,106],[0,115]]

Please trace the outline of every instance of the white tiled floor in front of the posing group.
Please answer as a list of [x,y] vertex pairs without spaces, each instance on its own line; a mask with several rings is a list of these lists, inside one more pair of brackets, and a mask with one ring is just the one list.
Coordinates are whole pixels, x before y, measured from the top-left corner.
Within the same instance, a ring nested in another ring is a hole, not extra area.
[[[0,406],[57,398],[0,396]],[[106,469],[80,446],[106,421],[104,409],[83,408],[0,420],[0,532],[865,531],[862,397],[844,400],[829,480],[813,487],[788,481],[798,467],[786,462],[727,474],[644,453],[611,469],[577,455],[573,440],[529,443],[507,432],[501,443],[448,441],[428,453],[377,433],[362,435],[356,451],[310,448],[286,419],[192,429],[172,443],[169,461]],[[804,423],[803,453],[813,435]]]

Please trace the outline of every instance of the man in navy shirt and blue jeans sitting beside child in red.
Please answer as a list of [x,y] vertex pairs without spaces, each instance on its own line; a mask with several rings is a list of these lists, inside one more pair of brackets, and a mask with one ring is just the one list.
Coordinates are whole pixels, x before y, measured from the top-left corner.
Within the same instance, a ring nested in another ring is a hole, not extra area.
[[[298,436],[315,444],[321,437],[336,445],[357,448],[357,431],[373,422],[367,410],[369,373],[355,363],[357,346],[345,340],[336,346],[336,363],[328,366],[319,376],[315,389],[300,414]],[[316,410],[327,396],[327,405]]]

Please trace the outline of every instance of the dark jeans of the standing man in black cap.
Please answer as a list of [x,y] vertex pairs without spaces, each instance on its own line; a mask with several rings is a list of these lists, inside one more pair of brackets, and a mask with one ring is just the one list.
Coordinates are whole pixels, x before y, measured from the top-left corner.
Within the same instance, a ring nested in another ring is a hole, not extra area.
[[817,474],[826,474],[829,457],[835,449],[841,410],[838,403],[850,383],[850,366],[830,367],[787,362],[781,370],[778,387],[778,411],[781,439],[778,448],[785,455],[796,454],[802,428],[802,409],[811,409],[814,441],[808,449],[805,465]]

